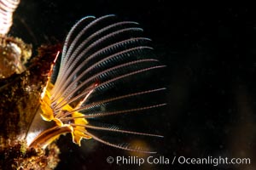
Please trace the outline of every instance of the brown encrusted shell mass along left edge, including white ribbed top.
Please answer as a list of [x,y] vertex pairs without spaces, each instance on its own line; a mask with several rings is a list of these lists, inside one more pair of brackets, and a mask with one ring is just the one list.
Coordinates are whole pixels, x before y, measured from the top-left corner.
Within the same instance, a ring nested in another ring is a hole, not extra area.
[[25,138],[37,115],[56,47],[39,48],[38,57],[27,63],[32,45],[7,35],[19,3],[0,0],[0,169],[53,169],[59,162],[58,147],[31,149]]

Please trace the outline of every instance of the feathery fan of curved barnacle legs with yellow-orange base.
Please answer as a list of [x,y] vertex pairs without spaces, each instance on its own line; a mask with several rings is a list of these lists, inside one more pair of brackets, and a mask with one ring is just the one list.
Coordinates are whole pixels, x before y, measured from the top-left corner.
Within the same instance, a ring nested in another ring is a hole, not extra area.
[[[132,82],[135,81],[134,77],[143,79],[148,72],[165,66],[150,57],[150,39],[141,37],[142,31],[136,22],[117,21],[114,15],[98,19],[84,17],[73,26],[64,43],[59,71],[54,73],[57,77],[49,82],[42,99],[41,116],[46,121],[55,121],[56,126],[39,135],[31,146],[44,146],[60,133],[72,133],[73,142],[77,144],[80,144],[81,139],[92,138],[124,150],[151,152],[113,144],[87,131],[94,129],[161,137],[112,126],[98,127],[88,121],[90,118],[144,111],[165,105],[126,105],[138,96],[145,97],[165,89],[141,90],[134,86],[132,92],[125,90],[129,88],[127,82],[137,83]],[[123,106],[115,107],[119,102]]]

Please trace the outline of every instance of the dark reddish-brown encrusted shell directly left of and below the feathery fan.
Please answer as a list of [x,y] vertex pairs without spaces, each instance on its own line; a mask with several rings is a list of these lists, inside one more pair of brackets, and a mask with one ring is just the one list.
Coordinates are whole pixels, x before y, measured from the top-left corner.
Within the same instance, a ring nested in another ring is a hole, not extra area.
[[26,71],[0,79],[0,169],[52,169],[59,161],[55,144],[47,150],[33,149],[27,147],[25,140],[40,107],[41,94],[56,58],[55,49],[39,48],[38,57],[32,59]]

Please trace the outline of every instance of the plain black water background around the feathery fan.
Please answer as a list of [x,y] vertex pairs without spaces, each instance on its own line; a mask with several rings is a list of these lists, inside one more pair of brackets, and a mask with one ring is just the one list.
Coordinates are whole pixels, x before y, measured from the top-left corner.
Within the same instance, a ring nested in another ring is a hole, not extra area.
[[104,14],[139,22],[167,65],[157,78],[167,88],[168,105],[149,116],[153,125],[145,123],[165,136],[149,142],[158,151],[154,156],[248,157],[251,165],[114,165],[107,163],[108,156],[130,155],[93,140],[79,147],[67,135],[58,141],[57,169],[255,169],[256,8],[192,7],[166,0],[22,0],[10,33],[37,48],[62,42],[83,16]]

